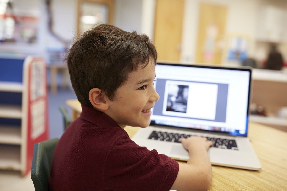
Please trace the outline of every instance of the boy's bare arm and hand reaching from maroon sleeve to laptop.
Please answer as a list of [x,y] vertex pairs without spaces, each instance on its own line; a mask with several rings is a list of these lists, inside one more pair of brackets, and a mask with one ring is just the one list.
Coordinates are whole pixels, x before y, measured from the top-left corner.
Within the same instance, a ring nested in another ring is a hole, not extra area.
[[187,164],[179,164],[179,172],[171,190],[208,190],[212,180],[212,170],[207,149],[212,141],[203,137],[181,139],[183,146],[189,151]]

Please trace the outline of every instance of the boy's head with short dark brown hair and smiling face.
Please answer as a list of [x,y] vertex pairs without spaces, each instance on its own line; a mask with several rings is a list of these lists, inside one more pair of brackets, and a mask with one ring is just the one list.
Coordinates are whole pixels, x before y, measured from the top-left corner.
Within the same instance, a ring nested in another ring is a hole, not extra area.
[[[103,111],[120,125],[144,127],[148,126],[146,119],[150,117],[150,111],[146,110],[158,100],[158,94],[152,86],[156,59],[156,48],[148,36],[100,24],[86,31],[73,44],[67,56],[67,64],[72,86],[81,104]],[[147,79],[149,81],[143,84]],[[138,83],[140,81],[142,83]],[[145,91],[148,89],[145,88],[147,83],[150,86],[149,92]],[[135,91],[131,88],[135,88]],[[128,95],[133,94],[134,99],[146,100],[146,103],[141,103],[137,108],[126,108],[127,111],[134,109],[134,113],[119,116],[115,113],[127,112],[124,107],[128,107],[128,99],[131,99],[126,97],[127,94],[122,94],[124,91],[129,91]],[[143,94],[146,94],[145,98],[141,98]],[[145,119],[142,121],[145,122],[136,123],[136,118],[143,113]]]

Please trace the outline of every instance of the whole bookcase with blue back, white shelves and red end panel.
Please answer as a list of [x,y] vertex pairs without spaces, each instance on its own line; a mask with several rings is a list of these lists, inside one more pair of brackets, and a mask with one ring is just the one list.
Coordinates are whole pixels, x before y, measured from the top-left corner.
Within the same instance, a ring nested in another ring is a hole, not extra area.
[[33,145],[48,139],[46,65],[0,59],[0,169],[30,172]]

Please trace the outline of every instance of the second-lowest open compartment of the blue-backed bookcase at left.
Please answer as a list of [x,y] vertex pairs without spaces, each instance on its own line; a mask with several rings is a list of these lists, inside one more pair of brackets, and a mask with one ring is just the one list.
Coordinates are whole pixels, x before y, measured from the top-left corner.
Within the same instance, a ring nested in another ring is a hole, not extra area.
[[12,125],[0,125],[0,144],[21,144],[21,127]]

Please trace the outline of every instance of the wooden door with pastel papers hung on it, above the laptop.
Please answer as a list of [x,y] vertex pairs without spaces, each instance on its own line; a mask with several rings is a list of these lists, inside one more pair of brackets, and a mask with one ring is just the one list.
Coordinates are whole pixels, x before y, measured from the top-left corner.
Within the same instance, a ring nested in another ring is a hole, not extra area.
[[195,62],[221,64],[227,8],[201,3]]

